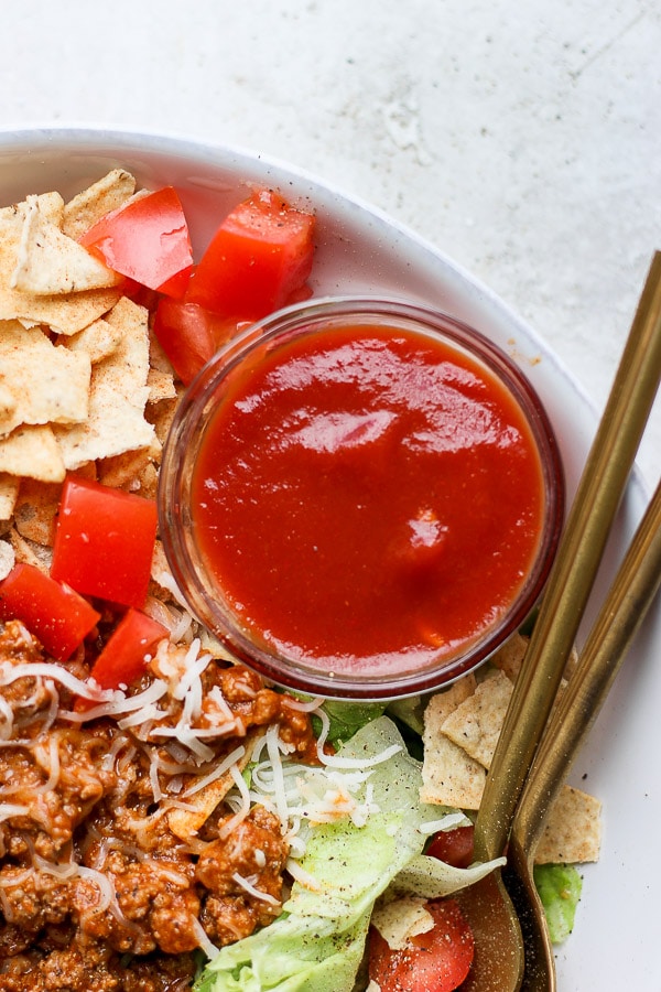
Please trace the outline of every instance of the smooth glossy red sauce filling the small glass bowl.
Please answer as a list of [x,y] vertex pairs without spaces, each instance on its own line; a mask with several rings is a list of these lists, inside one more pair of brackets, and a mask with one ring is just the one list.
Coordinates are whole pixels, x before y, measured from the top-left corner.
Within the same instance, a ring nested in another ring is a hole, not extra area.
[[543,510],[537,448],[500,382],[389,328],[322,332],[251,368],[193,479],[230,606],[334,671],[457,654],[520,589]]

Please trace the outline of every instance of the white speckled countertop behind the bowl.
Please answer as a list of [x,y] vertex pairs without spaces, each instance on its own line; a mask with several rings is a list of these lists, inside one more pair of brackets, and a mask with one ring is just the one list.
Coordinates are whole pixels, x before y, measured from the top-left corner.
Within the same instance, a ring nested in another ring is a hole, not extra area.
[[[646,0],[21,0],[0,128],[145,128],[293,162],[475,272],[605,402],[661,248]],[[639,465],[661,463],[655,406]]]

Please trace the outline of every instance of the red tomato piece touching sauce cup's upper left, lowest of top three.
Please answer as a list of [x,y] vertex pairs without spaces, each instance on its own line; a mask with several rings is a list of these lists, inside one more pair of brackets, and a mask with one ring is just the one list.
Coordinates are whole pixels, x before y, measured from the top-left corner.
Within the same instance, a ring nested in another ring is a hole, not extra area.
[[220,345],[241,330],[241,324],[218,316],[198,303],[163,296],[156,308],[153,330],[176,375],[187,386]]

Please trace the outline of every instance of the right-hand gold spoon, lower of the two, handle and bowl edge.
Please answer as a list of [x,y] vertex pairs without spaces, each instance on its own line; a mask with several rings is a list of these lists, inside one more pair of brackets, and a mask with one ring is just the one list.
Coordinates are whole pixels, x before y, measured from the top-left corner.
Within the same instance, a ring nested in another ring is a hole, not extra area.
[[556,988],[553,947],[532,874],[534,852],[551,805],[660,586],[661,483],[546,725],[514,816],[503,877],[523,931],[522,988],[530,992]]

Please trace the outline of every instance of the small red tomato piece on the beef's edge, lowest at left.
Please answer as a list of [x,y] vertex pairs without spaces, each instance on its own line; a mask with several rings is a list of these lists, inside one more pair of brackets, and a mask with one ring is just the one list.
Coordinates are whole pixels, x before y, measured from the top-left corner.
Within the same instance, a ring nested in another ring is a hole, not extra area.
[[94,662],[90,678],[101,689],[130,686],[143,673],[153,649],[167,635],[167,628],[151,616],[140,610],[127,610]]

